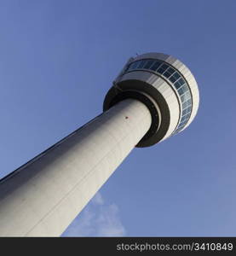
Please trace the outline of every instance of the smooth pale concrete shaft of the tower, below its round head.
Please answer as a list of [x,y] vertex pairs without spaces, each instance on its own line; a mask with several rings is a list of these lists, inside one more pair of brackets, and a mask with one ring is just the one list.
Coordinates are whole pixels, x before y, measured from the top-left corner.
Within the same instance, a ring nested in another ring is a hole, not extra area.
[[60,236],[152,123],[126,99],[0,184],[0,236]]

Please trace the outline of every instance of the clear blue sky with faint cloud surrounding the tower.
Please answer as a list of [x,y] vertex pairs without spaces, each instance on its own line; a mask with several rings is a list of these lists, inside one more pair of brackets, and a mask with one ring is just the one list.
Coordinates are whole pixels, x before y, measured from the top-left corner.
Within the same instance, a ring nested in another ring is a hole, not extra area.
[[0,2],[0,177],[101,113],[136,53],[191,69],[199,113],[135,148],[63,236],[235,236],[236,2]]

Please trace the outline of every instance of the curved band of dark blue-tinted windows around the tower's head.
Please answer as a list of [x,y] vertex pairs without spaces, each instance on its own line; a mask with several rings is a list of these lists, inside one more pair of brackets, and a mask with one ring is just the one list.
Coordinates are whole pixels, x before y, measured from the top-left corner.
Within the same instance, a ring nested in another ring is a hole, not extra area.
[[135,69],[152,70],[155,73],[163,75],[166,79],[170,81],[171,84],[175,86],[178,95],[181,97],[182,112],[180,123],[177,126],[176,131],[173,132],[173,134],[176,134],[177,132],[181,131],[184,125],[187,124],[187,121],[190,118],[192,111],[191,93],[187,83],[181,76],[181,73],[178,73],[176,69],[170,67],[170,65],[168,65],[164,61],[156,61],[149,59],[132,62],[126,71],[132,71]]

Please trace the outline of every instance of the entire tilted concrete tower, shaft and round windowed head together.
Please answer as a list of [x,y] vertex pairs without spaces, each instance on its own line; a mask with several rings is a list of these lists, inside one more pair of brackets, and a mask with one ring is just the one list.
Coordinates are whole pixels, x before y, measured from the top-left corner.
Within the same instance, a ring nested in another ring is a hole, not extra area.
[[198,85],[181,61],[130,58],[103,113],[0,181],[0,236],[60,236],[133,148],[183,131],[198,108]]

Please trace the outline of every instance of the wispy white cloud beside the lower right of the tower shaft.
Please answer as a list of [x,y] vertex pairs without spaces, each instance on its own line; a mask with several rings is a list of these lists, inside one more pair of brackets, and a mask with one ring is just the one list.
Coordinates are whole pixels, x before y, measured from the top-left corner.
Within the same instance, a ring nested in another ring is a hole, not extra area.
[[98,192],[62,236],[125,236],[118,206],[108,205]]

